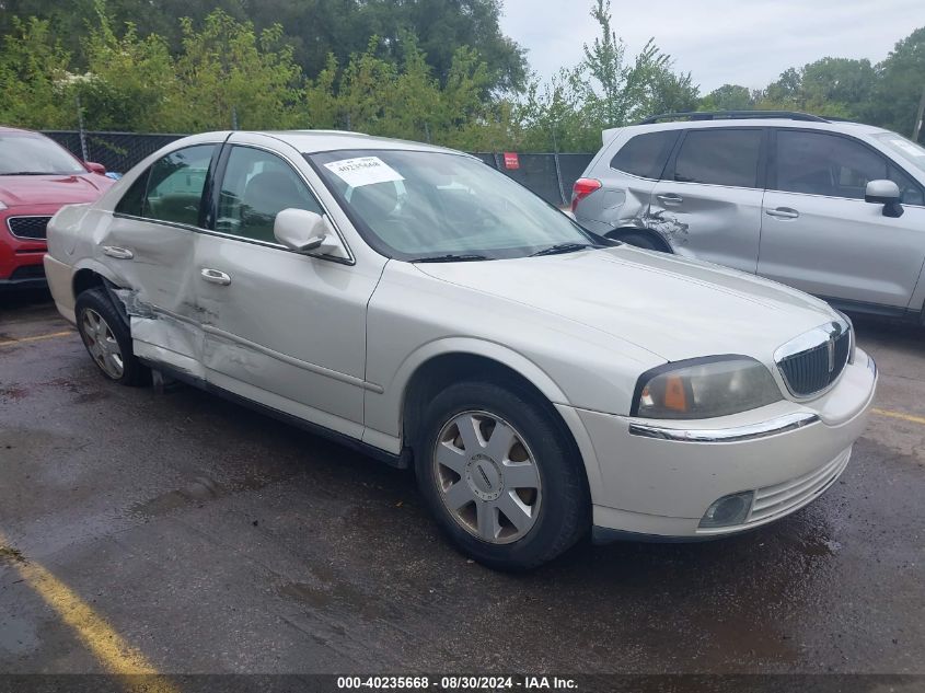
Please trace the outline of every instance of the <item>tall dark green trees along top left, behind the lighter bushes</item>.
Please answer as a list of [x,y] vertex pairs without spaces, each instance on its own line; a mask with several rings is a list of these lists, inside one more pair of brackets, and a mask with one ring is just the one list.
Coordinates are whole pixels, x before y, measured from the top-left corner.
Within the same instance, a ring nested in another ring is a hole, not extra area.
[[[81,47],[88,22],[96,19],[95,0],[2,0],[0,10],[4,34],[12,30],[13,16],[48,20],[77,67],[85,67]],[[500,0],[107,0],[114,26],[130,23],[142,38],[157,34],[174,56],[183,53],[185,41],[177,18],[198,26],[216,10],[252,22],[257,34],[279,24],[282,43],[292,47],[293,60],[310,76],[325,69],[332,53],[346,65],[351,55],[366,50],[373,35],[380,37],[380,57],[397,65],[402,34],[409,31],[441,83],[462,46],[474,48],[489,66],[490,90],[521,88],[525,79],[523,49],[500,30]]]

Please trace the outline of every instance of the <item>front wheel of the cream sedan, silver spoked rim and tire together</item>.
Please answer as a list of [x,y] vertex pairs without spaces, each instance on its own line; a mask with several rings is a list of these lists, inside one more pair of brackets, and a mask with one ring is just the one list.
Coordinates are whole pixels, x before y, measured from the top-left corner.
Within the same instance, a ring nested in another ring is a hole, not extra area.
[[583,470],[563,426],[529,395],[464,382],[428,407],[418,485],[462,551],[501,569],[551,561],[589,528]]

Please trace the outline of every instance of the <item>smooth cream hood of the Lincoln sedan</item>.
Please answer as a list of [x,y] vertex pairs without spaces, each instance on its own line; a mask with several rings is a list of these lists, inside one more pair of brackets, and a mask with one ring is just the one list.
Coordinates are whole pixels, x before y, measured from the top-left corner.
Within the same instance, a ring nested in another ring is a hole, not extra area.
[[823,301],[779,284],[626,245],[417,267],[600,330],[668,361],[741,354],[771,363],[778,346],[835,315]]

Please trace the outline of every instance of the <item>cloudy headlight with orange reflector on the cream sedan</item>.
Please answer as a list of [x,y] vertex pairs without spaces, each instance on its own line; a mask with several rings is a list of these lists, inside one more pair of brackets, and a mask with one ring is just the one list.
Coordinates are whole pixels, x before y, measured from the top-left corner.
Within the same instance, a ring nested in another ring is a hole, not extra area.
[[783,400],[767,368],[747,356],[677,361],[639,378],[633,416],[710,418]]

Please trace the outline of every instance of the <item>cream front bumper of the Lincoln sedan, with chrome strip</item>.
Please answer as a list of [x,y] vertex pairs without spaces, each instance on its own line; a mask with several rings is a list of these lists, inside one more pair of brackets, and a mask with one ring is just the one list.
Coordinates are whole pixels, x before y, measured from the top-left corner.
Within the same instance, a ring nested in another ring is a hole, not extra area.
[[[839,383],[808,403],[778,402],[699,421],[654,421],[577,409],[598,541],[713,539],[802,508],[845,470],[867,423],[877,370],[858,349]],[[580,441],[579,441],[580,444]],[[752,492],[737,524],[702,528],[717,499]]]

